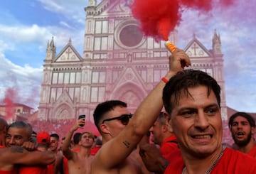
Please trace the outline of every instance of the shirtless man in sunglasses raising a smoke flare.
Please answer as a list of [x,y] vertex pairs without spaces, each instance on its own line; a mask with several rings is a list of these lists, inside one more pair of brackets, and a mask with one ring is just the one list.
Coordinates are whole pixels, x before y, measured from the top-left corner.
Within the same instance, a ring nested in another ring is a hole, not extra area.
[[169,57],[169,72],[130,114],[127,104],[111,100],[98,104],[93,114],[95,125],[102,135],[103,146],[92,161],[92,174],[95,173],[141,173],[129,155],[137,147],[142,137],[159,116],[163,107],[162,90],[170,77],[191,65],[188,55],[177,49]]

